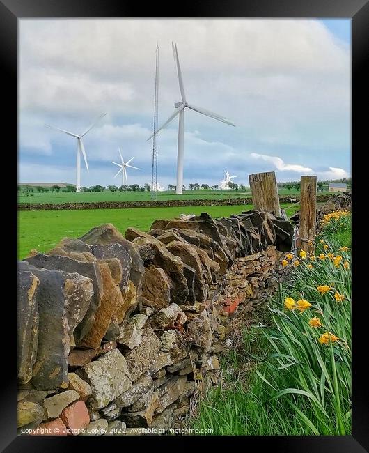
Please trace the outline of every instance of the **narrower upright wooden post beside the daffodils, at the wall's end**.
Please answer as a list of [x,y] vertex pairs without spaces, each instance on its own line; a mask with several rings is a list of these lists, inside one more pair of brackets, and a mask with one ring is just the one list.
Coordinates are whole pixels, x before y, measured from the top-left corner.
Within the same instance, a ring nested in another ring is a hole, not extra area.
[[297,252],[315,252],[315,224],[317,218],[317,177],[301,176],[300,222]]

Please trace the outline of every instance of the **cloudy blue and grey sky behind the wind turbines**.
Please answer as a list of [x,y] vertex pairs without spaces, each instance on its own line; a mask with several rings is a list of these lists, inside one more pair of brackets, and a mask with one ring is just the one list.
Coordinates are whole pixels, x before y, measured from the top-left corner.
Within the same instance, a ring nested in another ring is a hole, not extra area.
[[[219,184],[223,170],[248,185],[275,171],[350,176],[350,20],[20,20],[19,182],[75,183],[77,141],[89,172],[81,185],[121,185],[119,162],[151,181],[155,47],[159,125],[180,101],[171,42],[177,43],[187,102],[235,127],[185,112],[184,184]],[[158,135],[158,182],[175,184],[178,117]]]

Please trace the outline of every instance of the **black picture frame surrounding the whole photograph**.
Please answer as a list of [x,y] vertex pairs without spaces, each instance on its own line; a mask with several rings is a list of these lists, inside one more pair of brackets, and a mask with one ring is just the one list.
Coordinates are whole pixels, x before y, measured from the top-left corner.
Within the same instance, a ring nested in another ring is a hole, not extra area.
[[[352,19],[352,153],[359,151],[359,144],[367,144],[363,139],[363,134],[368,130],[368,93],[365,72],[365,63],[368,60],[368,29],[369,29],[369,3],[367,0],[228,0],[228,1],[202,1],[201,3],[187,2],[182,11],[175,10],[175,3],[125,3],[118,0],[0,0],[0,58],[3,76],[2,99],[3,111],[6,112],[3,132],[7,132],[9,139],[8,148],[17,148],[17,30],[18,20],[27,17],[301,17],[301,18],[351,18]],[[365,95],[365,93],[367,93]],[[361,107],[364,107],[363,109]],[[361,114],[359,112],[366,112]],[[367,134],[366,134],[367,135]],[[367,141],[367,139],[366,139]],[[16,156],[16,153],[13,153]],[[17,160],[13,158],[13,169],[17,171]],[[354,162],[352,162],[353,164]],[[352,169],[354,170],[354,169]],[[365,178],[365,177],[364,177]],[[354,191],[359,188],[359,183],[354,183]],[[14,191],[15,193],[15,191]],[[355,235],[352,238],[353,249],[359,249],[359,237],[361,236],[359,222],[355,222],[355,199],[353,204],[353,217]],[[7,201],[13,211],[11,199]],[[17,206],[16,200],[14,206]],[[15,224],[17,218],[14,216]],[[363,229],[363,227],[361,227]],[[17,243],[17,229],[14,229],[15,242]],[[364,234],[364,231],[362,232]],[[7,241],[8,242],[8,241]],[[356,248],[356,244],[358,248]],[[13,254],[13,247],[10,245],[10,254]],[[11,256],[11,255],[10,255]],[[16,256],[16,254],[15,254]],[[15,266],[16,266],[16,261]],[[9,268],[10,269],[10,268]],[[10,272],[10,270],[9,270]],[[366,374],[366,356],[359,351],[359,345],[368,343],[366,334],[366,309],[367,299],[357,295],[359,286],[366,282],[368,278],[363,273],[359,265],[355,264],[354,259],[354,286],[353,286],[353,365],[352,365],[352,436],[273,436],[273,437],[248,437],[242,440],[246,450],[258,448],[264,450],[272,447],[273,452],[314,452],[314,453],[355,453],[369,452],[369,385]],[[16,275],[16,274],[15,274]],[[4,277],[3,277],[4,278]],[[6,277],[7,278],[7,277]],[[356,283],[355,283],[356,282]],[[357,286],[357,291],[356,291]],[[357,301],[357,303],[355,303]],[[3,302],[4,304],[6,302]],[[15,303],[6,307],[6,315],[13,320],[17,319],[17,305]],[[17,328],[15,321],[15,329]],[[14,325],[13,325],[13,332]],[[17,376],[16,364],[10,367],[10,363],[16,362],[17,353],[16,339],[7,340],[6,346],[3,344],[3,367],[2,373],[6,375],[7,381],[0,387],[0,448],[3,452],[65,452],[72,451],[75,445],[78,449],[84,448],[86,443],[93,445],[94,448],[107,448],[109,443],[116,445],[118,440],[115,438],[101,437],[31,437],[17,436]],[[4,357],[5,356],[5,357]],[[6,368],[5,368],[6,367]],[[6,370],[6,372],[5,372]],[[12,371],[13,370],[13,371]],[[127,448],[127,443],[132,443],[134,448],[140,448],[142,442],[149,441],[153,445],[152,436],[134,436],[123,438],[120,445]],[[185,438],[169,436],[159,438],[161,447],[165,448],[167,443],[182,443]],[[187,438],[186,440],[189,440]],[[200,438],[191,437],[196,443]],[[217,440],[223,440],[217,439]],[[226,441],[229,442],[229,438]],[[93,444],[91,444],[93,443]],[[185,445],[185,444],[183,444]],[[240,444],[238,444],[240,445]],[[238,447],[240,448],[240,447]]]

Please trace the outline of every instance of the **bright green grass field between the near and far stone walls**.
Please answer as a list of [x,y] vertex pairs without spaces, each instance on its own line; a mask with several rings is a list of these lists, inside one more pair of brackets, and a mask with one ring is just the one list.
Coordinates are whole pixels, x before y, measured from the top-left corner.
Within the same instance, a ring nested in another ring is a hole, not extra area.
[[[290,205],[281,204],[283,208],[287,206]],[[19,211],[18,257],[23,259],[33,248],[39,252],[46,252],[61,238],[77,238],[104,223],[112,223],[124,234],[128,227],[147,231],[154,220],[178,217],[182,213],[198,215],[207,212],[213,217],[227,217],[249,209],[252,209],[251,205]],[[297,209],[298,206],[293,206],[287,208],[286,212],[292,215]]]

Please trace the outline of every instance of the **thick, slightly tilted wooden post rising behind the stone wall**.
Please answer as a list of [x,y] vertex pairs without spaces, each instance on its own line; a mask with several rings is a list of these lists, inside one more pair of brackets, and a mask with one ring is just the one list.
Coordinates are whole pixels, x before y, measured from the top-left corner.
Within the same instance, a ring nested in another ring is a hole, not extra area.
[[273,212],[278,217],[281,217],[281,206],[279,205],[274,171],[251,174],[249,175],[249,182],[253,197],[253,208],[269,213]]

